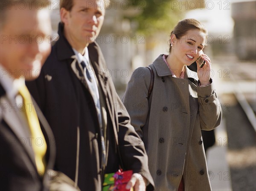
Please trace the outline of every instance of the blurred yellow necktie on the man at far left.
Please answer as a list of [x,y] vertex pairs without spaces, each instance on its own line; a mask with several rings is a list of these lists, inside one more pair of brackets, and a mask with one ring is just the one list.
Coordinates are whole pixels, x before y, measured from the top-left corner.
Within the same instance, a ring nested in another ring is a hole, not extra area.
[[26,118],[28,120],[29,129],[32,136],[31,144],[35,153],[35,163],[37,166],[37,170],[38,172],[44,174],[44,156],[47,150],[47,143],[44,139],[44,135],[39,124],[38,116],[35,111],[35,106],[32,102],[29,90],[27,89],[26,85],[20,87],[19,93],[23,98],[22,111],[26,113]]

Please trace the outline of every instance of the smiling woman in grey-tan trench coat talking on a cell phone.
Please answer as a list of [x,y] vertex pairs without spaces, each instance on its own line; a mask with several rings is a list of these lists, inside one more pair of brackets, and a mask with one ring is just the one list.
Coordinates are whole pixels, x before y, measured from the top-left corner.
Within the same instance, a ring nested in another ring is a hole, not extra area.
[[[222,111],[203,52],[206,40],[199,21],[181,20],[171,32],[169,55],[137,68],[122,99],[144,142],[156,190],[211,190],[201,130],[217,127]],[[195,61],[197,72],[187,67]]]

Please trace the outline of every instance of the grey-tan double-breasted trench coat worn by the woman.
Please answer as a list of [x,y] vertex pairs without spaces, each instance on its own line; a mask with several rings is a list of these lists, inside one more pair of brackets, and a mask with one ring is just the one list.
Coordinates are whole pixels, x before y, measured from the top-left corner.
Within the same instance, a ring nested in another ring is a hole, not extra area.
[[[150,66],[155,73],[150,99],[151,73],[140,67],[134,71],[122,101],[145,144],[156,190],[177,191],[183,175],[186,191],[209,191],[201,129],[212,130],[221,122],[221,105],[213,83],[199,87],[197,73],[187,67],[185,79],[172,77],[162,55]],[[143,142],[137,140],[135,144]]]

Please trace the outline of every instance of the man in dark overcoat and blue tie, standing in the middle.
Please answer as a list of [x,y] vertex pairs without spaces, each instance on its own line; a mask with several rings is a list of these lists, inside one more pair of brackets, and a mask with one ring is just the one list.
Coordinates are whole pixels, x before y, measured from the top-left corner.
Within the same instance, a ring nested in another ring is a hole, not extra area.
[[154,188],[143,144],[116,93],[94,42],[104,0],[61,0],[58,34],[41,74],[27,83],[56,141],[55,169],[81,190],[101,190],[104,175],[132,170],[127,188]]

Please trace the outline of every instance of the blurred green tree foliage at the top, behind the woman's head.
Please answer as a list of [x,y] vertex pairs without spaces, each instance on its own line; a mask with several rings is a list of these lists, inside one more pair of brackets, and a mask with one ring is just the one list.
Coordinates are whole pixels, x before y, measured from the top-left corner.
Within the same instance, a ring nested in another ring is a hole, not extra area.
[[[186,1],[188,2],[188,1]],[[129,0],[136,14],[127,15],[136,26],[137,32],[146,37],[158,32],[170,33],[175,24],[183,18],[186,3],[177,0]]]

